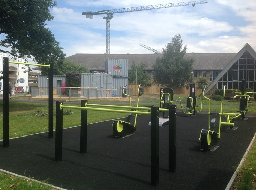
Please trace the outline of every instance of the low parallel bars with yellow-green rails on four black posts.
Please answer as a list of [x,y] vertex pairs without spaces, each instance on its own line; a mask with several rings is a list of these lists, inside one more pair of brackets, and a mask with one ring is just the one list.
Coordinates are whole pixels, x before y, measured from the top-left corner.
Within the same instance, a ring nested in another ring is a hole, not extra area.
[[[98,108],[101,107],[101,108]],[[107,107],[107,108],[106,108]],[[62,143],[63,143],[63,108],[81,110],[81,132],[80,132],[80,153],[87,152],[87,116],[88,110],[103,112],[119,112],[132,114],[150,115],[150,152],[151,152],[151,185],[159,184],[159,127],[158,107],[131,107],[118,105],[98,105],[88,104],[87,100],[81,101],[81,107],[64,106],[63,102],[56,102],[56,138],[55,138],[55,160],[62,160]],[[116,109],[113,109],[116,108]],[[129,110],[123,110],[123,109]],[[136,111],[135,111],[136,110]],[[142,110],[142,111],[138,111]],[[144,110],[144,111],[143,111]],[[147,112],[145,112],[147,111]],[[161,111],[167,111],[161,109]],[[169,107],[169,172],[176,172],[176,105]],[[100,132],[100,131],[99,131]]]

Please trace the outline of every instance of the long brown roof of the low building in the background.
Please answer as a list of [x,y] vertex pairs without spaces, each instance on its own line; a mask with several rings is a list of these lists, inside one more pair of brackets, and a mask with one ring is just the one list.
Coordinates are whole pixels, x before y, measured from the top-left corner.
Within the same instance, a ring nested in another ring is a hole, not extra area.
[[[237,55],[237,53],[187,53],[185,58],[194,58],[194,70],[222,70]],[[127,59],[129,65],[147,64],[146,70],[152,70],[156,59],[162,58],[162,54],[83,54],[77,53],[66,59],[80,65],[86,65],[90,70],[104,70],[105,61],[108,59]]]

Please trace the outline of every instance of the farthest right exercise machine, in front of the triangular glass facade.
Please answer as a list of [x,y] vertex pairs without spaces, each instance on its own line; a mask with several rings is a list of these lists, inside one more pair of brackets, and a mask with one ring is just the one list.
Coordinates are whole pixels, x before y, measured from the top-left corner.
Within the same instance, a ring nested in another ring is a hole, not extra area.
[[252,93],[246,92],[246,81],[242,80],[242,92],[239,95],[234,96],[233,99],[239,98],[239,113],[241,113],[241,119],[245,119],[246,112],[248,111],[248,99]]

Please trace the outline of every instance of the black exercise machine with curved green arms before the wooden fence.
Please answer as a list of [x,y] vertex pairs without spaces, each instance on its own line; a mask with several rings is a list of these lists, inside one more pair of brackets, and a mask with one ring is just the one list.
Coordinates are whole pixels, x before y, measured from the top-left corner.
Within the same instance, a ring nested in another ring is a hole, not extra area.
[[[187,114],[189,116],[195,115],[197,112],[200,112],[202,110],[202,104],[203,104],[203,98],[201,98],[201,107],[199,110],[196,110],[198,107],[197,105],[197,96],[196,96],[196,85],[195,83],[190,83],[190,91],[189,91],[189,96],[187,97],[187,104],[186,107],[183,108],[181,104],[181,99],[180,100],[180,106],[181,110],[184,114]],[[186,111],[184,111],[186,110]]]

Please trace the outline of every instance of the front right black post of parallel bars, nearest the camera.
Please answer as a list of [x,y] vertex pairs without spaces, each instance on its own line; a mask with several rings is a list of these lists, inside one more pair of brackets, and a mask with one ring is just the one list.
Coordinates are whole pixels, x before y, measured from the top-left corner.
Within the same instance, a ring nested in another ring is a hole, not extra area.
[[159,108],[151,107],[150,112],[151,185],[156,186],[159,184]]

